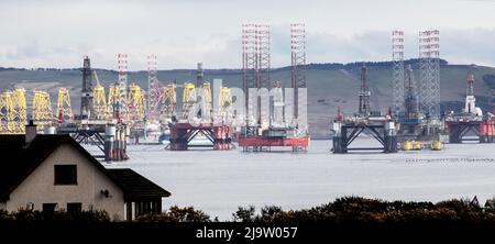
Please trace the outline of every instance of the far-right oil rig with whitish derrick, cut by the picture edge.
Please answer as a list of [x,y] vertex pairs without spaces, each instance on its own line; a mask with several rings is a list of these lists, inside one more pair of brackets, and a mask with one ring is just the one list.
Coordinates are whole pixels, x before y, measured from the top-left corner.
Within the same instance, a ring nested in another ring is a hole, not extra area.
[[472,69],[466,75],[465,104],[461,112],[451,111],[446,115],[446,124],[449,131],[449,143],[462,143],[475,141],[480,143],[495,142],[495,118],[476,107],[474,97],[474,75]]

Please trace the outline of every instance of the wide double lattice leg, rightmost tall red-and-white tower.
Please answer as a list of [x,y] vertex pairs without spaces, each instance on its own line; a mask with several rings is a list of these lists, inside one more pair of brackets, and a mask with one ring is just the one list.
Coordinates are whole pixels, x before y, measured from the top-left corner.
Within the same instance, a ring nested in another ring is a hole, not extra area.
[[419,32],[419,104],[432,120],[440,119],[440,32]]

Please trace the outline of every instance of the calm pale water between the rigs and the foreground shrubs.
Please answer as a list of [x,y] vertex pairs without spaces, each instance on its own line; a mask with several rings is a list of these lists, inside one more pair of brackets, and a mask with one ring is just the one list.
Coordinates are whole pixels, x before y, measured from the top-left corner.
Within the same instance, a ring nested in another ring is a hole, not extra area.
[[302,209],[351,195],[430,201],[477,196],[482,202],[495,196],[495,144],[346,155],[329,153],[330,144],[312,141],[309,152],[296,154],[130,146],[130,160],[106,166],[132,168],[170,191],[164,209],[194,206],[220,220],[230,220],[239,206]]

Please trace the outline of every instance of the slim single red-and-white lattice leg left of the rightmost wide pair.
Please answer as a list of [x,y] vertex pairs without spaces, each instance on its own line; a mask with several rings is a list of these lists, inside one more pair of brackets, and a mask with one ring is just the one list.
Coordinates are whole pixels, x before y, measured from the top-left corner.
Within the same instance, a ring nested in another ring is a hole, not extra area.
[[393,113],[397,115],[404,104],[404,32],[392,32],[392,98]]

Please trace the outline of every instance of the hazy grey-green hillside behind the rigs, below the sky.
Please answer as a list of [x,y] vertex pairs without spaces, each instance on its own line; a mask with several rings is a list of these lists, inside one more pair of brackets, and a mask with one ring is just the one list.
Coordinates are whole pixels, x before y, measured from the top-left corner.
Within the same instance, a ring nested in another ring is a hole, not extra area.
[[[409,63],[413,64],[416,80],[419,80],[417,60],[410,60]],[[369,86],[372,91],[372,109],[385,112],[392,102],[391,64],[369,63],[366,66],[369,67]],[[308,65],[308,115],[310,132],[315,137],[328,135],[329,121],[337,113],[339,106],[346,114],[352,114],[356,110],[360,67],[361,64]],[[441,67],[442,110],[459,110],[463,106],[468,69],[468,65],[443,63]],[[113,70],[98,69],[98,76],[105,86],[117,80],[117,73]],[[477,67],[474,70],[474,76],[477,106],[484,111],[493,111],[495,108],[495,68]],[[205,77],[207,80],[223,79],[223,84],[229,87],[242,87],[242,73],[240,70],[207,69]],[[195,81],[196,70],[160,70],[158,78],[163,82],[174,80],[177,84]],[[288,67],[273,69],[271,78],[272,80],[283,81],[287,87],[290,84],[290,69]],[[147,87],[145,71],[130,73],[129,80],[138,82],[142,88]],[[73,109],[77,111],[79,108],[81,74],[78,69],[0,69],[0,90],[12,89],[16,86],[24,87],[29,91],[29,96],[32,96],[34,89],[47,90],[52,93],[53,104],[56,102],[58,87],[67,87],[70,90]]]

